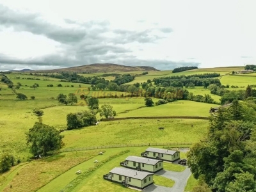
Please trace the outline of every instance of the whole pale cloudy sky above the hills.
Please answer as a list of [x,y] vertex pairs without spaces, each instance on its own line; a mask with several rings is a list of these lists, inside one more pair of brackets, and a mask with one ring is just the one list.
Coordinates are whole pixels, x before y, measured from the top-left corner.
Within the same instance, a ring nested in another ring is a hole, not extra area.
[[255,65],[255,7],[255,0],[0,0],[0,70]]

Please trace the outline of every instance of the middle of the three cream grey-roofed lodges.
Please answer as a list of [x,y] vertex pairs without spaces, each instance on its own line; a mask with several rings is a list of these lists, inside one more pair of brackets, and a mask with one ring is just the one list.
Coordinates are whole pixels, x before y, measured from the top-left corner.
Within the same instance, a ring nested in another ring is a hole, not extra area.
[[156,173],[163,170],[163,161],[159,159],[148,159],[144,157],[129,156],[120,163],[121,166]]

